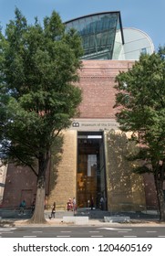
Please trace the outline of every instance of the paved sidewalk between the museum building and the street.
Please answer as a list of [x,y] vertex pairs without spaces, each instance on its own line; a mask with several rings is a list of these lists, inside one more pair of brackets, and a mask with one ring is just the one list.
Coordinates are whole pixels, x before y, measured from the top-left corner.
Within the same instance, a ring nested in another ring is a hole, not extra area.
[[[12,218],[13,214],[13,218]],[[159,222],[159,215],[157,211],[145,211],[145,212],[116,212],[110,213],[108,211],[101,211],[99,209],[90,210],[89,208],[77,209],[76,218],[82,221],[76,223],[70,221],[64,221],[66,217],[68,219],[74,218],[73,212],[57,211],[55,219],[49,219],[50,210],[45,211],[46,224],[28,224],[28,219],[31,218],[30,211],[26,211],[26,215],[18,216],[17,213],[8,212],[3,210],[3,217],[0,220],[0,226],[9,227],[68,227],[68,226],[103,226],[103,227],[130,227],[130,226],[161,226],[165,227],[165,222]],[[0,209],[0,216],[2,216],[2,209]],[[10,216],[10,218],[9,218]],[[85,217],[85,218],[84,218]],[[105,222],[104,217],[128,217],[129,221],[126,222]],[[88,219],[88,221],[83,221]],[[78,223],[78,224],[77,224]]]

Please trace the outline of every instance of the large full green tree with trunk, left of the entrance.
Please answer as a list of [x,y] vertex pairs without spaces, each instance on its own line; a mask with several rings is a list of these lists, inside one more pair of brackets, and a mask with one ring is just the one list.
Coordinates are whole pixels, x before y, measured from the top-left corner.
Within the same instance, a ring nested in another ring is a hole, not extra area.
[[65,31],[53,11],[43,27],[15,9],[1,41],[1,155],[4,161],[27,165],[37,176],[36,208],[31,222],[43,223],[46,167],[51,146],[77,114],[80,37]]

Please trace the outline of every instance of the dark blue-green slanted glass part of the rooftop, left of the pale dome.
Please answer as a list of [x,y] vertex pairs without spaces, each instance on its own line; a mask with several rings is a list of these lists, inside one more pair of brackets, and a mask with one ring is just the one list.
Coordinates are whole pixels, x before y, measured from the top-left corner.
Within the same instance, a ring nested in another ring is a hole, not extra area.
[[82,38],[82,59],[112,59],[115,45],[118,44],[119,48],[119,45],[124,43],[119,12],[82,16],[66,22],[66,29],[71,27],[75,28]]

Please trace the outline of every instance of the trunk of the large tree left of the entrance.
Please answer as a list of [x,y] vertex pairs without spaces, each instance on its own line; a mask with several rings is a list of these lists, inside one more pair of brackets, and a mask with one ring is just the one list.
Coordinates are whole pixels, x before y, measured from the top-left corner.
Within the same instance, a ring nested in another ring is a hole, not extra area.
[[29,223],[46,223],[45,219],[45,185],[46,185],[46,168],[49,161],[49,154],[41,154],[38,160],[38,176],[36,182],[36,206]]

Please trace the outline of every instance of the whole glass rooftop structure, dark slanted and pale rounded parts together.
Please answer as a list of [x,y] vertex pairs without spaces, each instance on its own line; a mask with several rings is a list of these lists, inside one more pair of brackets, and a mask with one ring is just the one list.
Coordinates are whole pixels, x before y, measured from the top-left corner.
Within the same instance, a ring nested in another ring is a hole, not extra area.
[[82,39],[81,59],[138,60],[141,53],[154,51],[150,37],[137,28],[123,28],[120,12],[104,12],[67,21]]

